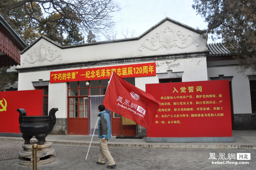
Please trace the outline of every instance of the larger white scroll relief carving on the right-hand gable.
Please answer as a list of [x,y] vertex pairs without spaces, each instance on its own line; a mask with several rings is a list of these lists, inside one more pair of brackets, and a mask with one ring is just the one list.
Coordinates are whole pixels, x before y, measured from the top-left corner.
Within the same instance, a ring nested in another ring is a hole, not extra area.
[[186,48],[191,44],[195,44],[197,47],[200,43],[192,35],[187,34],[185,36],[181,31],[176,31],[172,29],[169,25],[156,32],[152,35],[151,39],[145,39],[143,43],[139,46],[139,50],[142,51],[143,48],[149,50],[158,50],[159,48],[166,48],[170,50],[172,47]]

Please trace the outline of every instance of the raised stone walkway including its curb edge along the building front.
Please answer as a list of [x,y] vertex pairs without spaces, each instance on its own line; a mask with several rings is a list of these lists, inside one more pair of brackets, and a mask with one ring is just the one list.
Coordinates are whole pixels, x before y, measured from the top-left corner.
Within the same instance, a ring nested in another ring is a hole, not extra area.
[[[143,139],[116,139],[112,137],[109,147],[125,148],[163,148],[163,149],[256,149],[256,131],[232,131],[234,143],[147,143]],[[13,137],[15,136],[15,137]],[[53,144],[89,146],[92,136],[85,135],[48,135],[46,141]],[[32,141],[36,141],[32,138]],[[0,141],[24,142],[20,133],[0,133]],[[92,146],[99,146],[98,137]]]

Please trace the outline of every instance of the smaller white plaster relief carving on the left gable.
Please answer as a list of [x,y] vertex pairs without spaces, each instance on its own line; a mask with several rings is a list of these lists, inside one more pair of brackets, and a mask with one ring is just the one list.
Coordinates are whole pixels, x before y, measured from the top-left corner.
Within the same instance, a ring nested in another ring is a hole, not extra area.
[[42,63],[44,60],[53,61],[56,58],[62,59],[59,50],[53,50],[52,46],[47,46],[42,42],[39,47],[37,46],[31,53],[26,55],[22,63],[24,64],[26,61],[29,63],[40,61]]

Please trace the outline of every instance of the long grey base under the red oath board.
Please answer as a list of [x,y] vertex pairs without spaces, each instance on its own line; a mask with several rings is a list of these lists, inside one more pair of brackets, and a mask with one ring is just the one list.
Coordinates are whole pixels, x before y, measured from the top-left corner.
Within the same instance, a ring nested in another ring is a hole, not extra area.
[[233,137],[147,137],[151,143],[233,143]]

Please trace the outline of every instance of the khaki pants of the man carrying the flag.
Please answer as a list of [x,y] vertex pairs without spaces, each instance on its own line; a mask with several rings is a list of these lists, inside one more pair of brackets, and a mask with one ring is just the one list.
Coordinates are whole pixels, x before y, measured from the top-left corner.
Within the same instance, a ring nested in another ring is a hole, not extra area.
[[115,161],[113,160],[109,150],[108,150],[108,139],[105,139],[102,141],[100,139],[100,156],[99,156],[99,162],[100,163],[105,163],[105,156],[108,159],[108,164],[115,165]]

